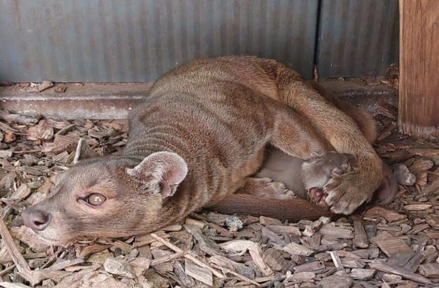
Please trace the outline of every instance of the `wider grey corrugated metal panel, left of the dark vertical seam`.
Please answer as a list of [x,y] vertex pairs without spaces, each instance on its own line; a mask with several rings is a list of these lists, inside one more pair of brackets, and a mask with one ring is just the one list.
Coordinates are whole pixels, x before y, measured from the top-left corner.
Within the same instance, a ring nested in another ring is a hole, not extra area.
[[3,0],[0,79],[150,81],[199,57],[255,54],[311,77],[317,0]]

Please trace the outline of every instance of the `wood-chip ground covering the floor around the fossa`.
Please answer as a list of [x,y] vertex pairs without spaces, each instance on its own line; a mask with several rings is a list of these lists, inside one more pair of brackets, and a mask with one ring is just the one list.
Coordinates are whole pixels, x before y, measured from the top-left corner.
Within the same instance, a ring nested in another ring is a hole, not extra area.
[[[0,208],[8,229],[0,225],[0,286],[437,286],[439,141],[398,133],[395,114],[396,107],[386,103],[375,113],[375,148],[400,183],[389,206],[363,208],[336,221],[297,223],[193,214],[154,234],[64,248],[47,246],[22,226],[21,212],[47,197],[54,177],[72,165],[79,138],[101,154],[119,154],[127,123],[54,121],[3,111]],[[13,243],[18,250],[11,255]]]

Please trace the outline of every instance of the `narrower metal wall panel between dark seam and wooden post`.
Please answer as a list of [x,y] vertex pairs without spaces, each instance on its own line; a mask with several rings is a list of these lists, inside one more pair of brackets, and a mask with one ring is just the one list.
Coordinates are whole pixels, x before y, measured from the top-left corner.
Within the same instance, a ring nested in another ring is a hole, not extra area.
[[382,75],[399,59],[398,0],[321,0],[320,77]]

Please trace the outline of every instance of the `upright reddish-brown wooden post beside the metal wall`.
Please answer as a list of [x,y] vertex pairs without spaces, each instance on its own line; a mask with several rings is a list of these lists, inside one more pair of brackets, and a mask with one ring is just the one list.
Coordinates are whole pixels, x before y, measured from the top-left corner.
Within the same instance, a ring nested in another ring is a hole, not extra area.
[[439,0],[400,0],[398,124],[414,136],[439,126]]

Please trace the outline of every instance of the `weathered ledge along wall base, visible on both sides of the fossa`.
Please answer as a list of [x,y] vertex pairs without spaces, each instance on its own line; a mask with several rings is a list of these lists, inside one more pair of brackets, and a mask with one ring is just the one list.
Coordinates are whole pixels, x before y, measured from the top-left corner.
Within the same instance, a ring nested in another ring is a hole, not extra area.
[[[126,119],[129,110],[146,97],[152,83],[57,83],[42,92],[19,85],[0,87],[0,108],[22,115],[54,119]],[[325,90],[346,98],[354,105],[374,111],[385,101],[397,105],[398,91],[386,85],[361,85],[357,81],[323,79]],[[64,93],[54,91],[67,86]]]

